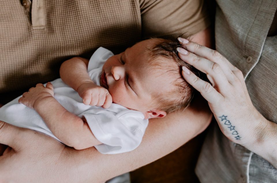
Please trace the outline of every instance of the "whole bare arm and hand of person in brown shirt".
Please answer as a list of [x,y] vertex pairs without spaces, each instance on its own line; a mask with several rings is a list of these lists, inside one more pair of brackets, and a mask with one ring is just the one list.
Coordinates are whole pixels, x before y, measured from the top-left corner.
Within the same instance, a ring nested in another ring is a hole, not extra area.
[[[209,36],[210,30],[205,30],[194,38],[201,37],[201,44],[210,46]],[[117,155],[102,155],[93,147],[74,150],[44,134],[0,122],[0,143],[12,147],[0,157],[0,182],[104,182],[146,165],[209,125],[207,103],[196,99],[184,112],[151,119],[141,145]]]

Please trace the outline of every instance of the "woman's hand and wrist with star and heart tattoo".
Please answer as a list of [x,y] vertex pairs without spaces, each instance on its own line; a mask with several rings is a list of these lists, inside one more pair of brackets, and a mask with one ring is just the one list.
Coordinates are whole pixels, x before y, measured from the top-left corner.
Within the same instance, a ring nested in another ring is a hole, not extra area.
[[[182,75],[208,101],[222,133],[277,168],[277,124],[253,106],[242,72],[215,50],[180,38],[179,56],[207,74],[201,80],[186,68]],[[186,49],[184,49],[186,48]]]

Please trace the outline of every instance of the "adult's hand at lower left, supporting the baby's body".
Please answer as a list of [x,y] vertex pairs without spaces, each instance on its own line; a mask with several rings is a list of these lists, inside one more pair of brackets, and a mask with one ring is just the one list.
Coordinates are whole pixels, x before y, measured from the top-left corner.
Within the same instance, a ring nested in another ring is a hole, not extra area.
[[65,145],[50,136],[0,121],[0,144],[9,146],[0,156],[0,182],[58,182],[65,174],[57,164]]

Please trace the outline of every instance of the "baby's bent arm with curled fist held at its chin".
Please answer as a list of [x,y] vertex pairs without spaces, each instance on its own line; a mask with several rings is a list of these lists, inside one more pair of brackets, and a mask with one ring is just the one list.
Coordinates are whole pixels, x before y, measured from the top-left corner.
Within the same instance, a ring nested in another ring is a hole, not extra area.
[[111,94],[107,89],[93,83],[87,73],[88,63],[87,59],[81,57],[63,62],[60,68],[61,79],[78,92],[84,104],[108,108],[112,104]]

